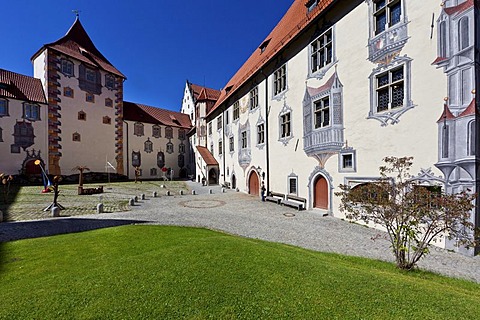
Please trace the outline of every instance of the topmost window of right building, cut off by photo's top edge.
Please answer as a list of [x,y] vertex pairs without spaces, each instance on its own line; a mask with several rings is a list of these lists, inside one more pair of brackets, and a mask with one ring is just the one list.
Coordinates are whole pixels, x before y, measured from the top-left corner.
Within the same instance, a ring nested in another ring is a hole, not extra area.
[[402,16],[401,0],[374,0],[373,17],[375,34],[385,31],[386,27],[400,22]]

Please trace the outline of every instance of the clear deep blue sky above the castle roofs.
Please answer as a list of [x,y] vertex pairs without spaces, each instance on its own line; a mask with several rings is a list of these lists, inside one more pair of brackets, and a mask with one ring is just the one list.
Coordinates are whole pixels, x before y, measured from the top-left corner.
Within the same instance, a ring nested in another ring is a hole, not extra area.
[[[293,0],[1,0],[0,68],[33,76],[31,56],[80,10],[96,47],[127,76],[124,99],[179,111],[185,80],[220,89]],[[9,48],[9,49],[7,49]]]

